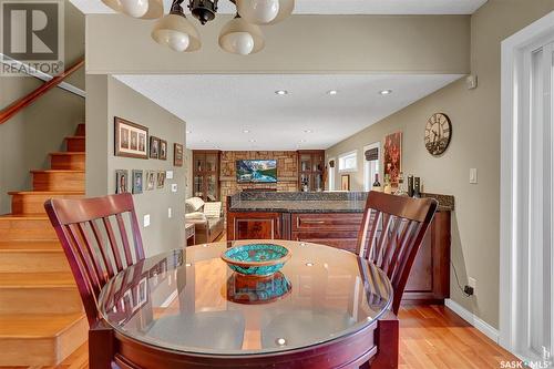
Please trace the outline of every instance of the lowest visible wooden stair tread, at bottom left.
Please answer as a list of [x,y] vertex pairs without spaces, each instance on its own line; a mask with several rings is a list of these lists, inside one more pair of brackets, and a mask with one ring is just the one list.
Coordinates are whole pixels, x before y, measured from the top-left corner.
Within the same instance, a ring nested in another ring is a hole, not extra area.
[[58,337],[84,318],[85,316],[82,312],[1,314],[0,339]]

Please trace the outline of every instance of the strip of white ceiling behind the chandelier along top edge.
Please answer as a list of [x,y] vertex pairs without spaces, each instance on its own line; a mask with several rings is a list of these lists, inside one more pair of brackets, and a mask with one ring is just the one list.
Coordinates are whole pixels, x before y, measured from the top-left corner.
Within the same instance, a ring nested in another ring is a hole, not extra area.
[[[111,10],[101,0],[70,0],[83,13]],[[165,10],[171,0],[164,0]],[[297,0],[299,14],[472,14],[486,0]],[[235,12],[228,0],[219,0],[219,12]]]

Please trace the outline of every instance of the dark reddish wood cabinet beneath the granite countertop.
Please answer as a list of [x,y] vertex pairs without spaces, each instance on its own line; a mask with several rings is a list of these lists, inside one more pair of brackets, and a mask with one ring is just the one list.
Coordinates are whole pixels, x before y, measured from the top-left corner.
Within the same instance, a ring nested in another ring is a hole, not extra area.
[[[228,212],[236,239],[293,239],[356,252],[361,213],[289,214]],[[402,301],[442,304],[450,297],[450,212],[435,214],[406,286]]]

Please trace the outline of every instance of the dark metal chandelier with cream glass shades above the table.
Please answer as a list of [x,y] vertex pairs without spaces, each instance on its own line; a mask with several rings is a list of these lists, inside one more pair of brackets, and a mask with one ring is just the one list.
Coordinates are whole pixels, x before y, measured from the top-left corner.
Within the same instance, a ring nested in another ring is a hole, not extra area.
[[[138,18],[157,19],[152,38],[176,52],[197,51],[202,47],[198,31],[185,17],[183,2],[173,0],[164,16],[163,0],[102,0],[116,12]],[[187,0],[188,9],[202,24],[215,19],[219,0]],[[248,55],[264,49],[259,25],[270,25],[286,19],[295,9],[295,0],[228,0],[236,7],[236,17],[219,32],[219,47],[230,53]]]

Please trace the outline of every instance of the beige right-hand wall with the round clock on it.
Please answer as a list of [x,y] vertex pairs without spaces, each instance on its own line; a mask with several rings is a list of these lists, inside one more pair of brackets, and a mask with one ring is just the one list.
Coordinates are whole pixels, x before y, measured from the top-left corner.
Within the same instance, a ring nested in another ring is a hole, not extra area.
[[[479,88],[469,91],[463,80],[355,134],[327,151],[327,157],[381,141],[402,131],[403,172],[422,177],[424,191],[455,196],[452,221],[452,262],[461,284],[478,280],[476,294],[466,298],[451,274],[452,299],[493,327],[499,327],[500,247],[500,43],[503,39],[554,10],[554,0],[489,0],[471,18],[471,71]],[[452,143],[441,157],[423,145],[424,125],[435,112],[447,113],[453,125]],[[479,170],[479,184],[469,184],[470,168]],[[363,188],[363,171],[352,174],[353,189]],[[339,178],[337,178],[337,185]]]

